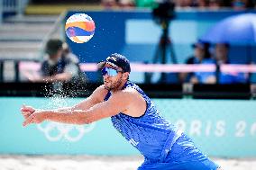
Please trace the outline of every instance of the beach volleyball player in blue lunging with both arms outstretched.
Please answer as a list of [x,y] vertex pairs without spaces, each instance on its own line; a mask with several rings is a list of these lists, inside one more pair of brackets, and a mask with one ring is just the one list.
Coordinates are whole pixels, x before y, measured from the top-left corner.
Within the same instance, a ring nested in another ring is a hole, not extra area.
[[98,67],[104,85],[86,100],[58,110],[23,106],[23,126],[42,121],[87,124],[110,117],[114,128],[145,157],[139,170],[221,169],[186,134],[166,121],[142,89],[129,81],[131,68],[127,58],[114,53]]

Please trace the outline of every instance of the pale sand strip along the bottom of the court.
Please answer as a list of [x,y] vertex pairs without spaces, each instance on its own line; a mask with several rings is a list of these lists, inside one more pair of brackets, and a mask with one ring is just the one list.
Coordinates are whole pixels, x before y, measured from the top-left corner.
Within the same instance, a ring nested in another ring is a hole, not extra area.
[[[213,158],[224,170],[256,170],[256,158]],[[135,170],[142,157],[0,155],[0,170]]]

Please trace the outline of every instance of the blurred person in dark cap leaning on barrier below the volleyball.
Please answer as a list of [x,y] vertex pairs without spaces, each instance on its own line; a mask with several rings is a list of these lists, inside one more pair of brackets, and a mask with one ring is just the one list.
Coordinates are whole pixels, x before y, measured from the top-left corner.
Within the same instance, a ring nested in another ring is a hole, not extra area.
[[41,64],[41,77],[37,82],[86,82],[86,76],[78,66],[78,58],[72,54],[66,43],[49,40],[46,44],[46,57]]

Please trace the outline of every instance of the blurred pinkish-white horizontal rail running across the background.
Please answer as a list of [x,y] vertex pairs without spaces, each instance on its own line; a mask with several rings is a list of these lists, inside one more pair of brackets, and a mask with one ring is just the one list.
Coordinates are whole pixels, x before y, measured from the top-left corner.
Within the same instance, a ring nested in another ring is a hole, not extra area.
[[[96,63],[80,63],[83,72],[96,72],[98,70]],[[19,70],[21,72],[38,72],[41,67],[40,62],[21,61]],[[131,63],[133,72],[164,72],[164,73],[187,73],[187,72],[215,72],[215,64],[141,64]],[[256,73],[256,65],[242,64],[223,64],[220,65],[220,71],[224,73]]]

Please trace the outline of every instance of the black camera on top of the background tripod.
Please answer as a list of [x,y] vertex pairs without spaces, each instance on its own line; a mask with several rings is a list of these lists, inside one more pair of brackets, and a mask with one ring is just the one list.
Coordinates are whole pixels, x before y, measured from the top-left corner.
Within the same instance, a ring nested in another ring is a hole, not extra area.
[[175,4],[172,0],[161,0],[157,7],[153,8],[153,19],[159,24],[169,22],[175,17],[174,8]]

